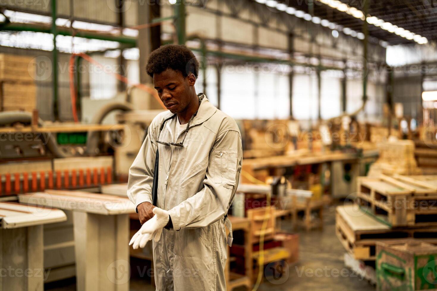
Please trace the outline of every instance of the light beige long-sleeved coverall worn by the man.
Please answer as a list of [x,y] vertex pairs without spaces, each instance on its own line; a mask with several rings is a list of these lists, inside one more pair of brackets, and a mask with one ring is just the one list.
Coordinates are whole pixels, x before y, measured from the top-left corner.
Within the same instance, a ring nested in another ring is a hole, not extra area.
[[[169,212],[173,223],[173,229],[163,229],[160,240],[153,242],[159,291],[226,290],[224,218],[239,181],[241,136],[235,120],[213,106],[205,95],[199,96],[201,105],[191,121],[184,147],[156,143],[161,123],[172,116],[170,111],[160,113],[149,126],[129,170],[129,199],[136,206],[153,203],[158,147],[157,206]],[[175,117],[165,123],[160,141],[182,141],[185,131],[173,140],[176,122]]]

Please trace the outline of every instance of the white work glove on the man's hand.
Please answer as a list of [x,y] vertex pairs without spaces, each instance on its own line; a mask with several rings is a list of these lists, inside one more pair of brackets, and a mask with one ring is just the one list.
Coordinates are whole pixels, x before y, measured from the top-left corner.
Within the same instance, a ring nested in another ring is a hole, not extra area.
[[160,209],[158,207],[153,208],[153,213],[155,214],[151,219],[147,220],[137,231],[134,236],[132,236],[129,246],[133,243],[133,248],[138,249],[146,246],[146,243],[153,238],[157,242],[160,240],[161,233],[164,226],[167,225],[169,221],[169,215],[166,210]]

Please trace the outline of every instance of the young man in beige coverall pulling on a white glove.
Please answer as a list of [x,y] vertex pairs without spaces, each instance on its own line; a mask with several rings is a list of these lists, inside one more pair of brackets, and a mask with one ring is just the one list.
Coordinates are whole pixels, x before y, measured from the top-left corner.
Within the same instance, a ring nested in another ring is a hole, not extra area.
[[241,171],[241,136],[235,120],[196,94],[198,69],[184,45],[156,49],[146,66],[169,111],[153,119],[129,170],[128,197],[143,224],[130,244],[143,247],[154,238],[159,291],[226,290],[226,243],[232,236],[226,238],[225,224],[230,226],[227,213]]

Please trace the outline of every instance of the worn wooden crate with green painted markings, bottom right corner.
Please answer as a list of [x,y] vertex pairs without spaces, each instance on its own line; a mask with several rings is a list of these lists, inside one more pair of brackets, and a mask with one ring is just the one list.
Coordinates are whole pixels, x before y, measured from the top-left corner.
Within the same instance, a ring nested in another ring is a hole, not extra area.
[[420,240],[399,240],[378,243],[376,253],[378,291],[437,289],[437,246]]

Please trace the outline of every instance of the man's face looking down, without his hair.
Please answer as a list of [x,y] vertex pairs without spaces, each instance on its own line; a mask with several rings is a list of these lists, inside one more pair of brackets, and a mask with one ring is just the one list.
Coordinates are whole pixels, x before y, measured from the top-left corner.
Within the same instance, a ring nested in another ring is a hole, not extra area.
[[153,74],[153,85],[161,101],[171,113],[184,111],[190,103],[191,87],[196,79],[194,75],[184,78],[182,73],[166,69],[160,74]]

